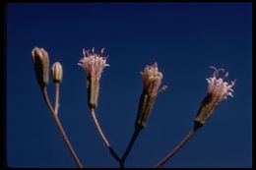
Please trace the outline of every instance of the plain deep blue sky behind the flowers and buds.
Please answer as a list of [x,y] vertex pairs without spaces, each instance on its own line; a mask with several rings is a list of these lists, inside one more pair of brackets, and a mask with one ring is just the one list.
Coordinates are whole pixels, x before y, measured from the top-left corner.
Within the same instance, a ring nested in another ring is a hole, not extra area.
[[[7,6],[7,163],[76,167],[36,84],[31,51],[43,47],[63,66],[60,120],[85,167],[117,167],[87,106],[82,49],[105,47],[96,114],[123,154],[134,130],[140,72],[158,62],[162,85],[127,167],[153,167],[193,126],[207,92],[209,66],[237,79],[234,97],[165,167],[251,167],[252,5],[250,3],[81,3]],[[54,101],[52,82],[48,86]]]

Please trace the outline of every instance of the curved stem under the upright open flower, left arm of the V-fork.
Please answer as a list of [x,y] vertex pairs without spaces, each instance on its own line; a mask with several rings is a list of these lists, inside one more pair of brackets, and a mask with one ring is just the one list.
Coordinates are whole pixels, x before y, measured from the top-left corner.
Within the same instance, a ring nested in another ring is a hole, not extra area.
[[105,136],[104,136],[104,133],[103,131],[101,130],[100,126],[99,126],[99,123],[96,119],[96,110],[95,108],[91,108],[91,115],[92,115],[92,118],[94,120],[94,123],[96,125],[96,130],[98,131],[101,139],[103,140],[103,142],[105,143],[105,145],[107,146],[107,148],[109,149],[109,152],[110,154],[115,158],[116,161],[120,162],[120,158],[119,156],[116,154],[116,152],[114,151],[114,149],[111,147],[110,143],[106,140]]

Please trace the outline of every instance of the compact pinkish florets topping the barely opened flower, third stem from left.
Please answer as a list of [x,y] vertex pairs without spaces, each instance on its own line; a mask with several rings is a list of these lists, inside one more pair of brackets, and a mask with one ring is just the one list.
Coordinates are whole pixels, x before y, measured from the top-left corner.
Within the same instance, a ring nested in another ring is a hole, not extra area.
[[162,74],[159,72],[158,64],[153,66],[147,65],[142,74],[143,89],[148,90],[150,93],[158,93]]

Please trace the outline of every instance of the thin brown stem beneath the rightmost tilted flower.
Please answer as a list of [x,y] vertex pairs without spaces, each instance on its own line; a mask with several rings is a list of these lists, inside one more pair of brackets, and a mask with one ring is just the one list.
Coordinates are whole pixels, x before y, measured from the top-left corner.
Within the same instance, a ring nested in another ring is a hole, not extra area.
[[178,150],[193,137],[198,128],[199,127],[194,126],[193,129],[190,130],[188,135],[182,140],[182,142],[180,142],[170,153],[168,153],[167,156],[162,158],[160,162],[155,166],[155,168],[160,168],[164,163],[166,163],[170,158],[172,158],[178,152]]

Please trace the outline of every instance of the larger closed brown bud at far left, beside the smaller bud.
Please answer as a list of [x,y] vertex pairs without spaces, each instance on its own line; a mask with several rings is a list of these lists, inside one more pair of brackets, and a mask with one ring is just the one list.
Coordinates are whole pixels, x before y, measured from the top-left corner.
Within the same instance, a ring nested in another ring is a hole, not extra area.
[[32,63],[38,85],[41,87],[49,84],[49,58],[43,48],[32,49]]

